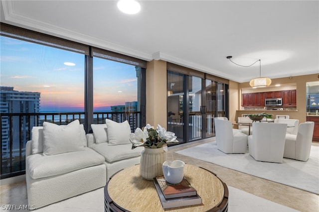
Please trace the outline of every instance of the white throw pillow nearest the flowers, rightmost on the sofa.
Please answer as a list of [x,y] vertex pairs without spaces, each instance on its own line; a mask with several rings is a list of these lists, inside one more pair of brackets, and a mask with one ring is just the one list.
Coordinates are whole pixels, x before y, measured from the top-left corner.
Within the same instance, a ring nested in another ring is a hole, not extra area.
[[118,144],[128,144],[130,142],[131,126],[126,120],[122,123],[106,119],[108,130],[109,146]]

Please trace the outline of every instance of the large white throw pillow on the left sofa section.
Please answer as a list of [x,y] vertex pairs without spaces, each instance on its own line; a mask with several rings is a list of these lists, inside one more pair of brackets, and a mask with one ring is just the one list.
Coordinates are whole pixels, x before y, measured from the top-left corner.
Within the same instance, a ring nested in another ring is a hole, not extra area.
[[43,155],[84,150],[79,120],[68,125],[43,122]]

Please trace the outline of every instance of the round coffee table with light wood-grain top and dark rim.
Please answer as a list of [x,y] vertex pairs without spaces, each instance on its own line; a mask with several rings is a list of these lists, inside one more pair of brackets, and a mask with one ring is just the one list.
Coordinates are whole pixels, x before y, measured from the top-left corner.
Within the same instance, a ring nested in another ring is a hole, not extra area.
[[[228,211],[228,188],[214,173],[186,164],[184,177],[202,198],[201,205],[165,209],[183,212]],[[115,174],[104,188],[105,212],[161,212],[160,199],[153,181],[140,176],[140,165]]]

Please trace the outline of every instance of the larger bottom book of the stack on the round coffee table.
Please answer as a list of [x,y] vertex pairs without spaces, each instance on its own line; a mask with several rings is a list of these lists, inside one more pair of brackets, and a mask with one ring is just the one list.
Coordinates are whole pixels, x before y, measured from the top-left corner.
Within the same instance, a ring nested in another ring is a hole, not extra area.
[[156,178],[154,178],[154,185],[158,192],[160,203],[163,207],[163,209],[168,208],[175,208],[175,207],[183,207],[183,206],[192,206],[192,205],[198,205],[202,203],[202,200],[198,194],[194,196],[188,196],[188,197],[178,197],[178,198],[170,198],[165,199],[163,193],[161,192],[160,185],[158,184],[158,181]]

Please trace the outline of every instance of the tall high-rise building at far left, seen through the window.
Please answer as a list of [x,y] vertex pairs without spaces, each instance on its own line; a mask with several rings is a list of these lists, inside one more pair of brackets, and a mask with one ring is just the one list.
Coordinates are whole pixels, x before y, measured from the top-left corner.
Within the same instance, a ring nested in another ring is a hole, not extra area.
[[[14,91],[13,87],[0,86],[0,112],[1,113],[30,113],[40,111],[40,93],[38,92],[20,92]],[[20,120],[19,120],[20,118]],[[27,141],[29,139],[27,131],[29,127],[35,125],[34,116],[13,116],[11,132],[9,129],[9,117],[2,116],[1,119],[1,151],[2,158],[10,154],[10,134],[12,139],[12,157],[18,156],[20,151],[20,139]],[[21,122],[21,128],[19,126]],[[37,125],[37,124],[36,124]],[[25,143],[23,143],[25,147]],[[22,148],[23,155],[25,148]]]

